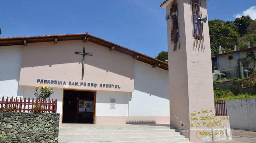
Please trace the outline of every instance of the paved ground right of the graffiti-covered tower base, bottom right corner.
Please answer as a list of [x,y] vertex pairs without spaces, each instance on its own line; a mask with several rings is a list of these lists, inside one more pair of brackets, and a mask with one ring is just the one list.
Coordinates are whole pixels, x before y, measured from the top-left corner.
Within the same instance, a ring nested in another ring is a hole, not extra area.
[[232,140],[215,143],[256,143],[256,132],[232,129]]

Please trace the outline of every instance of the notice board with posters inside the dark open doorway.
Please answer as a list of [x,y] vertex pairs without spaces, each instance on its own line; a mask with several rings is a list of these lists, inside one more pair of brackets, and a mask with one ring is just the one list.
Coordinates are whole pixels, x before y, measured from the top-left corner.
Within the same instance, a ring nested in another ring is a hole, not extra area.
[[77,99],[77,112],[94,112],[94,101],[90,99]]

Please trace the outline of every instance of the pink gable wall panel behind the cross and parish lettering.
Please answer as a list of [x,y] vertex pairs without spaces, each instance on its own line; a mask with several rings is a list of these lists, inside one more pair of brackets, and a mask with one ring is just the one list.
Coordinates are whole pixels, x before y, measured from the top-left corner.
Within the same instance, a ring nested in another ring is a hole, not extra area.
[[[75,52],[92,53],[85,55],[84,79],[82,80],[83,55]],[[37,79],[78,82],[78,85],[46,84],[56,88],[83,90],[105,90],[133,92],[134,89],[134,60],[131,56],[109,51],[108,48],[95,43],[77,41],[29,43],[23,48],[22,68],[19,85],[35,86]],[[80,86],[86,82],[86,86]],[[96,83],[96,87],[87,83]],[[100,84],[115,84],[118,88],[101,88]],[[45,83],[44,83],[45,85]]]

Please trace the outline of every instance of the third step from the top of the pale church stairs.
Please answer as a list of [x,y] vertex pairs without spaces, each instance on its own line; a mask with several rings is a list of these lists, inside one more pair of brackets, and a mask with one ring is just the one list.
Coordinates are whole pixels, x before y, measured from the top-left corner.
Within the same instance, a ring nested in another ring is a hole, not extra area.
[[180,136],[179,132],[151,132],[151,133],[112,133],[109,131],[108,133],[97,133],[97,134],[89,134],[87,132],[80,133],[59,133],[59,139],[67,139],[67,138],[115,138],[115,137],[156,137],[156,136]]

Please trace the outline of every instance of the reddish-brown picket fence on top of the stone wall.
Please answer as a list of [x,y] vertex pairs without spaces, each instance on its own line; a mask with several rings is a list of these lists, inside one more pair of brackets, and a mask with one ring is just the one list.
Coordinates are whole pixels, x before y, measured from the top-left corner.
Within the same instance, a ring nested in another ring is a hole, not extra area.
[[[36,108],[37,107],[37,108]],[[4,100],[4,97],[0,101],[0,112],[35,112],[35,113],[44,113],[44,112],[52,112],[56,113],[57,111],[57,99],[50,100],[49,99],[38,99],[30,98],[26,100],[26,98],[14,99],[13,97],[9,99],[7,97]]]

